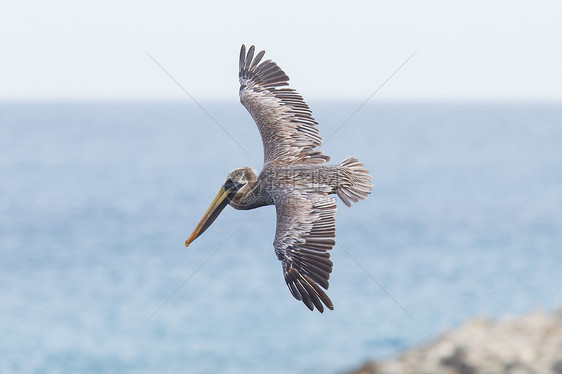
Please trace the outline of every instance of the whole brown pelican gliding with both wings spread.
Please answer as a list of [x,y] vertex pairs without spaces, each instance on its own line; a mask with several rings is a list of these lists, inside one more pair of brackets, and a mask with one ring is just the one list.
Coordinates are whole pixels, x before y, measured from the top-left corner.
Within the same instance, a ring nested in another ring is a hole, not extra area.
[[[330,253],[336,236],[337,194],[347,205],[367,198],[369,171],[354,157],[324,165],[330,157],[318,149],[322,138],[308,105],[289,77],[271,60],[260,63],[254,46],[240,50],[240,102],[258,125],[264,148],[259,176],[250,167],[232,170],[211,206],[185,242],[189,246],[229,204],[248,210],[275,205],[277,228],[273,247],[285,282],[295,299],[310,310],[333,310],[328,289]],[[321,288],[322,287],[322,288]]]

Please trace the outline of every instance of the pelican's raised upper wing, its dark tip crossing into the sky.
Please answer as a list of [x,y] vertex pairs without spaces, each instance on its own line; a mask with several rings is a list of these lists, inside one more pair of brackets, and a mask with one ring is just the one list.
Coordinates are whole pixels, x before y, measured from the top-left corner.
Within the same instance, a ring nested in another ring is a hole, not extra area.
[[254,46],[240,50],[240,102],[258,125],[264,148],[264,163],[321,164],[330,158],[316,148],[322,138],[312,112],[302,96],[289,85],[289,77],[271,60],[260,63],[264,51],[254,58]]

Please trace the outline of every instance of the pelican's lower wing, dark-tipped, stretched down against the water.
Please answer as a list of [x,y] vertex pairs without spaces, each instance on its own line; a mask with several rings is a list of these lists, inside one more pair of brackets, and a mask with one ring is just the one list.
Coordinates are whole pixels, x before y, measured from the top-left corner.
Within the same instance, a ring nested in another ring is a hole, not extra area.
[[[275,199],[275,253],[283,264],[285,282],[293,296],[320,313],[333,310],[328,289],[330,253],[336,236],[336,200],[322,192],[287,191]],[[322,287],[322,288],[320,288]]]

